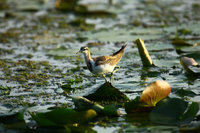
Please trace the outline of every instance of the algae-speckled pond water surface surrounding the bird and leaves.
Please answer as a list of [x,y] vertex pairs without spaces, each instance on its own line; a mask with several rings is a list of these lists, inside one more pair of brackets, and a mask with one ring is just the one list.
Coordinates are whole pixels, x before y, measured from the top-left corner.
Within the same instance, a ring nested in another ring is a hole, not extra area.
[[[87,8],[78,10],[80,6]],[[57,7],[58,8],[58,7]],[[177,91],[197,95],[182,96],[200,103],[200,78],[188,75],[180,57],[200,63],[199,0],[80,0],[70,11],[55,8],[54,0],[3,0],[0,2],[0,115],[49,107],[73,108],[71,98],[84,96],[104,84],[102,77],[86,68],[80,47],[88,46],[92,56],[109,55],[128,46],[114,75],[113,86],[130,99],[141,95],[155,80],[165,80]],[[174,38],[191,46],[175,46]],[[144,68],[134,40],[144,40],[156,67]],[[196,45],[192,45],[196,44]],[[70,84],[71,91],[61,88]],[[125,111],[121,108],[121,112]],[[179,132],[179,126],[162,126],[137,117],[102,118],[91,130],[97,132]],[[199,128],[199,117],[188,125]],[[0,124],[0,131],[21,132]]]

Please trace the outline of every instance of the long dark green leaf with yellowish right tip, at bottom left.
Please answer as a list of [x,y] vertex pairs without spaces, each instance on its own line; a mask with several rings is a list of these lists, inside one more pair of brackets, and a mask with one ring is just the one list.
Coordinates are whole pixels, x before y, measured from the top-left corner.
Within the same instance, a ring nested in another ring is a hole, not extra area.
[[96,112],[92,109],[77,112],[73,109],[57,108],[46,113],[31,113],[32,118],[40,126],[65,126],[72,124],[81,124],[96,116]]

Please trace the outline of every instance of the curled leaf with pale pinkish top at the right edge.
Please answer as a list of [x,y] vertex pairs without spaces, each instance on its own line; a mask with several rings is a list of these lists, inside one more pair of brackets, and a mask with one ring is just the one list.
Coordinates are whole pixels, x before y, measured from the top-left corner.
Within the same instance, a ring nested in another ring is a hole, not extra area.
[[188,72],[188,74],[200,74],[200,67],[193,58],[181,57],[180,64],[183,66],[186,72]]

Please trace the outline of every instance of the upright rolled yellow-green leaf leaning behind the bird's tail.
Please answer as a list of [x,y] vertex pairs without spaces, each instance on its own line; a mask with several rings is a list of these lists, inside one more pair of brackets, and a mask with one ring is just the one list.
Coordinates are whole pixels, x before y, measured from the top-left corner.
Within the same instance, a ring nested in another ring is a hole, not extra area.
[[135,40],[135,42],[137,44],[143,66],[145,66],[145,67],[153,66],[153,62],[151,60],[151,57],[149,56],[149,52],[147,51],[147,49],[144,45],[144,41],[142,39],[137,39],[137,40]]

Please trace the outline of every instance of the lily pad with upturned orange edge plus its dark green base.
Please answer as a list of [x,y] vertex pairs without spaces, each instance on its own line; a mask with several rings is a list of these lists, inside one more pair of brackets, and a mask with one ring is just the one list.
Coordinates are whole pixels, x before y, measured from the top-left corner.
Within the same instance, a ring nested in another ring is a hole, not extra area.
[[125,111],[130,113],[150,112],[156,104],[171,92],[170,85],[161,80],[149,84],[140,97],[125,103]]

